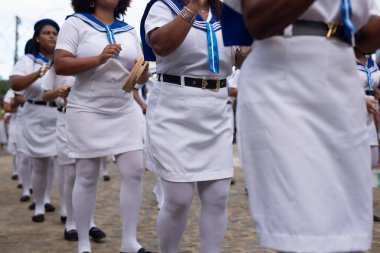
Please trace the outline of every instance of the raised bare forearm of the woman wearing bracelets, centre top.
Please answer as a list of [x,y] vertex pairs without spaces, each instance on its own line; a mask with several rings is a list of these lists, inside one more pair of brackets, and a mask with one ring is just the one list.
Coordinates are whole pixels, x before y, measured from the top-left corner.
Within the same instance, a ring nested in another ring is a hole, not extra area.
[[[199,7],[192,4],[188,4],[187,7],[194,13],[199,11]],[[151,31],[149,42],[153,51],[162,57],[173,53],[183,43],[191,26],[192,24],[178,15],[168,24]]]

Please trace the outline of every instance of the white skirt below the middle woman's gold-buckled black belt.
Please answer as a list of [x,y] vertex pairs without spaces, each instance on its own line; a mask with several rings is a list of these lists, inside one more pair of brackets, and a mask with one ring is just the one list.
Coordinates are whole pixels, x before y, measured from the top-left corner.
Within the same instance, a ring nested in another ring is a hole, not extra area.
[[171,182],[231,178],[227,89],[156,83],[147,111],[147,164]]

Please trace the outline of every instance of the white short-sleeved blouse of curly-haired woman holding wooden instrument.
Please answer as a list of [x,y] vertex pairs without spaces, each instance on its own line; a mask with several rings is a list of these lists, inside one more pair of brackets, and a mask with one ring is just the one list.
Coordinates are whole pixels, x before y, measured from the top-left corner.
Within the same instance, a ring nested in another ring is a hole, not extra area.
[[[68,107],[106,114],[125,114],[133,110],[133,94],[125,93],[122,87],[135,59],[142,55],[140,40],[134,29],[115,33],[114,38],[121,44],[119,57],[77,75],[68,97]],[[106,33],[71,16],[59,32],[56,49],[85,58],[100,55],[108,44]]]

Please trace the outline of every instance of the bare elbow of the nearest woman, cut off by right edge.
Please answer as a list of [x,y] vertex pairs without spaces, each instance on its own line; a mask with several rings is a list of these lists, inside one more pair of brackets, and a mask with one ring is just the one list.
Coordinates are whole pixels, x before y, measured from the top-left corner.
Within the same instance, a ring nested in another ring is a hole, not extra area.
[[356,44],[362,52],[373,53],[380,48],[380,17],[374,16],[356,35]]

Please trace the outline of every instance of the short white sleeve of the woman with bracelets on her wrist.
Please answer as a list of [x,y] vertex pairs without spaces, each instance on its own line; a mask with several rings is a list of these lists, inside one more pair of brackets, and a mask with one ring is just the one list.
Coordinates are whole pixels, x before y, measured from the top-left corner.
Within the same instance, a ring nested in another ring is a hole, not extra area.
[[166,25],[170,21],[172,21],[176,15],[166,6],[165,3],[161,1],[157,1],[152,5],[149,10],[149,14],[145,20],[145,40],[149,45],[149,33],[161,26]]

